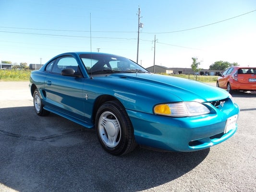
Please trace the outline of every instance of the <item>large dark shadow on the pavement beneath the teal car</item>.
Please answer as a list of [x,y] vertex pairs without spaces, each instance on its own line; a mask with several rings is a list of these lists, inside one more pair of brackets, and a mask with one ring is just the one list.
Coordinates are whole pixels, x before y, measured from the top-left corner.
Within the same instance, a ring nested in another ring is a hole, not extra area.
[[209,149],[179,153],[136,148],[105,152],[95,131],[33,107],[0,108],[0,184],[17,191],[135,192],[175,180]]

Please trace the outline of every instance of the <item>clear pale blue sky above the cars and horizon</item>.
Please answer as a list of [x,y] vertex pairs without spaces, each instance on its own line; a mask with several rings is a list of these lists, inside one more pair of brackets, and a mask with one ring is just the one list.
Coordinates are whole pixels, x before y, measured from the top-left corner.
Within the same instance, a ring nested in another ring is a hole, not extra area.
[[99,48],[136,61],[139,7],[143,67],[154,47],[166,67],[190,68],[192,57],[205,69],[218,60],[256,66],[256,0],[0,0],[0,60],[45,63]]

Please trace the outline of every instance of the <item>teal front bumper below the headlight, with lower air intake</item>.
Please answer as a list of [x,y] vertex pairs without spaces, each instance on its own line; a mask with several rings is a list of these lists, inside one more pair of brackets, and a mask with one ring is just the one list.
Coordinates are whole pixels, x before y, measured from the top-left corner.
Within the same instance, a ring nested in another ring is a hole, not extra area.
[[127,113],[134,126],[138,144],[170,151],[189,152],[206,149],[230,138],[235,127],[224,133],[226,120],[239,113],[236,104],[202,116],[171,118],[132,110]]

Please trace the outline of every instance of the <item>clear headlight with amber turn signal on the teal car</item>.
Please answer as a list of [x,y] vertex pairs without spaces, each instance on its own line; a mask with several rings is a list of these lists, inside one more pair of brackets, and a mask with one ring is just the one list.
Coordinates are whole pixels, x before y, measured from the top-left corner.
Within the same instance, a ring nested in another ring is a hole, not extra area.
[[188,117],[209,113],[209,109],[198,102],[179,102],[159,104],[154,107],[154,113],[171,117]]

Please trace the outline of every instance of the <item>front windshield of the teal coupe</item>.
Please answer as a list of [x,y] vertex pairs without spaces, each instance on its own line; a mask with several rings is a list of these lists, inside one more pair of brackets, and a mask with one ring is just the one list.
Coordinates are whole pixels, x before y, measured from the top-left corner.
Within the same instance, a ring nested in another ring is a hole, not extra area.
[[81,54],[88,73],[148,72],[132,60],[108,54]]

